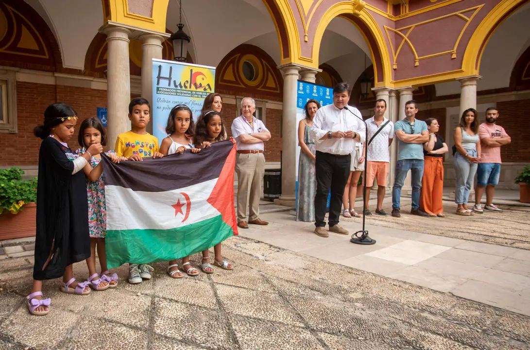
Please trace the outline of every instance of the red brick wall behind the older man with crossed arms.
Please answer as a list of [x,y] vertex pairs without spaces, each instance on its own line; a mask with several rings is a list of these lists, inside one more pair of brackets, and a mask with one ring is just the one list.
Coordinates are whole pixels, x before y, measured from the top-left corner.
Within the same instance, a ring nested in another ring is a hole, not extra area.
[[[232,136],[232,121],[236,118],[235,104],[223,104],[223,124],[226,128],[228,137]],[[267,162],[281,161],[281,137],[280,123],[281,110],[268,108],[265,112],[265,126],[269,129],[271,139],[265,143],[265,159]]]

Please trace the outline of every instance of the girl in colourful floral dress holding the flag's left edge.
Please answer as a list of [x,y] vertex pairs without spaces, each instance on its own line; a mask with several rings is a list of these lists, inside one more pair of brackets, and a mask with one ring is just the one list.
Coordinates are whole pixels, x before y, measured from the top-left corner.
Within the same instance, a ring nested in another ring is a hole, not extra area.
[[[90,145],[101,143],[105,145],[105,129],[98,118],[85,119],[81,123],[78,142],[82,148],[77,150],[78,154],[83,154]],[[125,161],[127,158],[118,157],[116,152],[105,152],[113,163]],[[107,233],[107,207],[105,205],[105,185],[103,177],[103,165],[101,155],[91,155],[89,162],[83,168],[87,182],[86,194],[89,201],[89,233],[91,256],[86,259],[89,267],[89,281],[94,290],[103,291],[107,288],[116,288],[118,285],[118,275],[112,274],[107,268],[107,255],[105,252],[105,234]],[[101,267],[101,277],[96,273],[96,256]]]

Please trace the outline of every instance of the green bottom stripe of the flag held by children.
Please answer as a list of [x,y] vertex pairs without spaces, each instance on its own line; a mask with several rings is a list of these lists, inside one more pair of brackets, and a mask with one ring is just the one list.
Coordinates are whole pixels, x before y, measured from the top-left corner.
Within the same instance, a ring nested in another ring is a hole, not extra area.
[[107,265],[114,268],[130,262],[149,264],[192,255],[234,235],[222,215],[170,230],[107,231]]

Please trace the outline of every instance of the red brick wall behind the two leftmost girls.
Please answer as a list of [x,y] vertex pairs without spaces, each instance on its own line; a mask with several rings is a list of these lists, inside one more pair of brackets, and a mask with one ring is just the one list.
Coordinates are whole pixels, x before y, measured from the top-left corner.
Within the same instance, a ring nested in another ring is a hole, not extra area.
[[[16,83],[17,125],[15,134],[0,134],[0,166],[37,165],[41,140],[33,136],[33,128],[42,124],[46,107],[55,102],[72,106],[80,121],[96,117],[97,107],[107,107],[107,91],[75,86]],[[73,150],[77,144],[76,133],[68,142]]]

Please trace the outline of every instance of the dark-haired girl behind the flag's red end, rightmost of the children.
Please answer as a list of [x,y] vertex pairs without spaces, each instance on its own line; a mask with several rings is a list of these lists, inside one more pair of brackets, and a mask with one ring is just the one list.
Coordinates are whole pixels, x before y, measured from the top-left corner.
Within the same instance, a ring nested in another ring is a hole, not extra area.
[[[193,136],[193,143],[198,148],[209,147],[210,144],[223,141],[226,138],[225,127],[221,120],[221,115],[215,110],[202,111],[195,129],[195,136]],[[207,274],[214,273],[213,268],[209,264],[210,256],[209,250],[202,252],[202,270]],[[214,246],[214,265],[225,270],[232,270],[234,267],[227,260],[222,260],[221,257],[221,243]],[[207,261],[206,263],[204,261]]]

